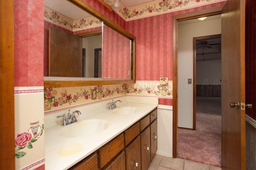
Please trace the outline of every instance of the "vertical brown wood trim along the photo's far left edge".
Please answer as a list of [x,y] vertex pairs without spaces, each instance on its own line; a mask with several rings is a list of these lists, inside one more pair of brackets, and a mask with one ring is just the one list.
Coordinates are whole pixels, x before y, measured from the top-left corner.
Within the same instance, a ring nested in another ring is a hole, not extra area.
[[0,167],[14,170],[14,1],[2,1],[0,9]]

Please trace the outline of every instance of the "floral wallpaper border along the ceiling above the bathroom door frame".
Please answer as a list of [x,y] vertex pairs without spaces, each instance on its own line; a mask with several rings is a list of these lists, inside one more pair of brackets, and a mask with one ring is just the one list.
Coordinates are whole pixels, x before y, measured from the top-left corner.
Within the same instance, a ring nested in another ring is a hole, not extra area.
[[117,11],[117,13],[124,20],[128,21],[222,1],[226,0],[153,0],[130,7],[122,4],[121,10]]

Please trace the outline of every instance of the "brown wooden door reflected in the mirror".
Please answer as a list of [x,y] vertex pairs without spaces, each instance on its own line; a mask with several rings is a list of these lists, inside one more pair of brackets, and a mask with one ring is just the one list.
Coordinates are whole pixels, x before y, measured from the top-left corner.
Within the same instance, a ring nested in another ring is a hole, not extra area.
[[80,37],[54,27],[49,28],[49,76],[82,77]]

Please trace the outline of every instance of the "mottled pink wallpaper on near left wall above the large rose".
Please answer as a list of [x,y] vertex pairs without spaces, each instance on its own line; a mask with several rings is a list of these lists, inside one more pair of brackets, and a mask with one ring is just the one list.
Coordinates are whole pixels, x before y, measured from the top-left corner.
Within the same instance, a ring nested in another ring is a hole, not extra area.
[[14,86],[43,86],[44,1],[14,1]]

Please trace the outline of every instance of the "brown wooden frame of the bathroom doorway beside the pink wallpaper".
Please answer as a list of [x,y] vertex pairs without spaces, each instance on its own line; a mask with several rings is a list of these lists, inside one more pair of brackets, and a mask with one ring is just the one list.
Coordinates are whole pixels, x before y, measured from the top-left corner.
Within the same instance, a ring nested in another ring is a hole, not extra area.
[[[172,132],[172,157],[177,158],[178,154],[178,21],[191,20],[201,17],[214,16],[222,13],[223,6],[190,12],[173,16],[173,132]],[[195,83],[195,82],[194,82]],[[194,93],[194,92],[193,92]]]

